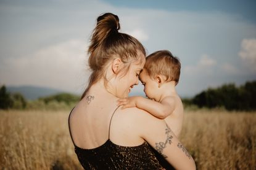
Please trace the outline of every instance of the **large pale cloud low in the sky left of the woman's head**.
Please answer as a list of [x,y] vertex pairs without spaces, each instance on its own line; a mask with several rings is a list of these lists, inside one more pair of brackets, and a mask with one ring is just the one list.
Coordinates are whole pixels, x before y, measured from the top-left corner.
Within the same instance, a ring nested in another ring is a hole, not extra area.
[[72,39],[20,58],[8,58],[1,80],[12,85],[38,85],[79,93],[88,78],[85,42]]

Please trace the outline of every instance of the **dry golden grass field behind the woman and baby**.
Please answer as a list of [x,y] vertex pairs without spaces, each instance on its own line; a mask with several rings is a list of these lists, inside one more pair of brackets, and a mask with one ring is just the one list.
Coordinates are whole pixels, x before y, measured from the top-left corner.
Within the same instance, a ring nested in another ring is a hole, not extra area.
[[[68,114],[0,110],[0,169],[82,169]],[[180,141],[197,169],[255,169],[256,113],[186,111]]]

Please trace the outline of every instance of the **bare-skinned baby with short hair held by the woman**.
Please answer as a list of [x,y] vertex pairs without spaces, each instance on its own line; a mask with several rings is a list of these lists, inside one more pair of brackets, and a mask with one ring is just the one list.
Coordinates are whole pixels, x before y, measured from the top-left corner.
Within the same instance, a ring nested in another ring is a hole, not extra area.
[[168,50],[160,50],[147,56],[146,64],[139,74],[147,98],[132,96],[119,99],[118,106],[138,107],[157,118],[165,119],[177,137],[183,124],[183,104],[176,93],[181,64]]

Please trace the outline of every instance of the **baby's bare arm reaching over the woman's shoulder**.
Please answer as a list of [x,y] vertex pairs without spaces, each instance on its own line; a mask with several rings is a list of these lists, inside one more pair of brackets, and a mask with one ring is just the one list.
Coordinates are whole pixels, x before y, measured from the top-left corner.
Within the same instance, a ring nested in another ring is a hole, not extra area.
[[118,106],[120,105],[123,105],[123,109],[126,107],[138,107],[139,109],[146,110],[157,118],[163,119],[173,112],[175,108],[175,99],[167,97],[164,98],[162,102],[157,102],[143,98],[142,96],[133,96],[130,98],[119,99]]

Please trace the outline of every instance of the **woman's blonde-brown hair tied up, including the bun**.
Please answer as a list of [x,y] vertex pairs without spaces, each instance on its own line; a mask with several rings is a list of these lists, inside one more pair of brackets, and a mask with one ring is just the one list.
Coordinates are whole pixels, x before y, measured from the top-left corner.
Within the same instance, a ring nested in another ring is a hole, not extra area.
[[138,57],[139,52],[146,56],[143,45],[128,34],[118,33],[119,29],[120,24],[117,15],[105,13],[97,18],[97,25],[94,28],[88,49],[88,64],[92,73],[89,77],[88,87],[81,99],[86,95],[89,88],[102,77],[105,82],[107,81],[105,70],[110,61],[120,58],[124,66],[117,74],[123,72],[125,75],[133,61],[141,60]]

